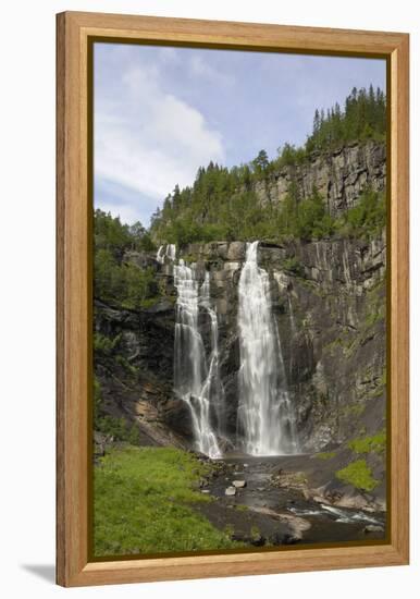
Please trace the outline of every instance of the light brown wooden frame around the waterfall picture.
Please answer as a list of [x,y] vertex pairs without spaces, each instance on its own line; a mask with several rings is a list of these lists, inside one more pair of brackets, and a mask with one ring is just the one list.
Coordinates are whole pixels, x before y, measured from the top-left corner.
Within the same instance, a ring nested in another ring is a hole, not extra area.
[[[57,582],[101,585],[408,563],[408,56],[409,37],[363,32],[65,12],[57,61]],[[92,37],[205,47],[383,57],[388,64],[388,465],[383,545],[92,561],[88,547],[91,206],[88,52]]]

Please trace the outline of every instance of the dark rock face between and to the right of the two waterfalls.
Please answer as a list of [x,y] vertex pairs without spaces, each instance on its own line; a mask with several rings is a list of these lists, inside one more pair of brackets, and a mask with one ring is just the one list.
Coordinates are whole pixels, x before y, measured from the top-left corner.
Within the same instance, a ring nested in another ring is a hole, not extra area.
[[[243,261],[228,256],[244,256],[245,248],[235,242],[186,250],[211,272],[231,436],[238,401],[237,282]],[[384,239],[259,248],[306,451],[372,433],[384,424],[385,253]]]

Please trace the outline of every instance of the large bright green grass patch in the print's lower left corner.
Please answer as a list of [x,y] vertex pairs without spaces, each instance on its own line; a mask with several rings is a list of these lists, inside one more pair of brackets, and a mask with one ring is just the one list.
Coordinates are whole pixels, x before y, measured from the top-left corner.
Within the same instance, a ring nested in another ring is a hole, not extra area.
[[95,468],[95,555],[238,547],[192,504],[209,466],[174,448],[113,449]]

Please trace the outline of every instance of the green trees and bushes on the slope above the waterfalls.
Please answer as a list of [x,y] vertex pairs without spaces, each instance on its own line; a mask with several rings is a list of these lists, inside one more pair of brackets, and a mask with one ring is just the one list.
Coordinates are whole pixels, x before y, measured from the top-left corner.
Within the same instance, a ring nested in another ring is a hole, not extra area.
[[255,185],[268,183],[284,167],[310,160],[314,151],[331,152],[350,142],[384,140],[386,100],[383,91],[354,89],[342,110],[338,105],[316,112],[312,133],[300,148],[286,144],[269,160],[264,150],[249,163],[224,168],[200,167],[192,186],[175,186],[153,218],[150,233],[158,243],[178,246],[218,240],[300,240],[331,236],[370,236],[385,222],[384,194],[367,188],[360,201],[343,217],[332,218],[325,198],[316,188],[301,199],[296,182],[281,205],[258,201]]

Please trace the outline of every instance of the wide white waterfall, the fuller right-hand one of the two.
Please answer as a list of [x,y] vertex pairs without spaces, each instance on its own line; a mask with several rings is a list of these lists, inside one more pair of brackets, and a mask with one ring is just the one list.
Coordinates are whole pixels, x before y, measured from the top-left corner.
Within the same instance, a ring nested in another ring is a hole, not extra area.
[[251,455],[298,450],[282,345],[271,310],[269,276],[258,266],[258,243],[248,243],[239,278],[238,429]]

